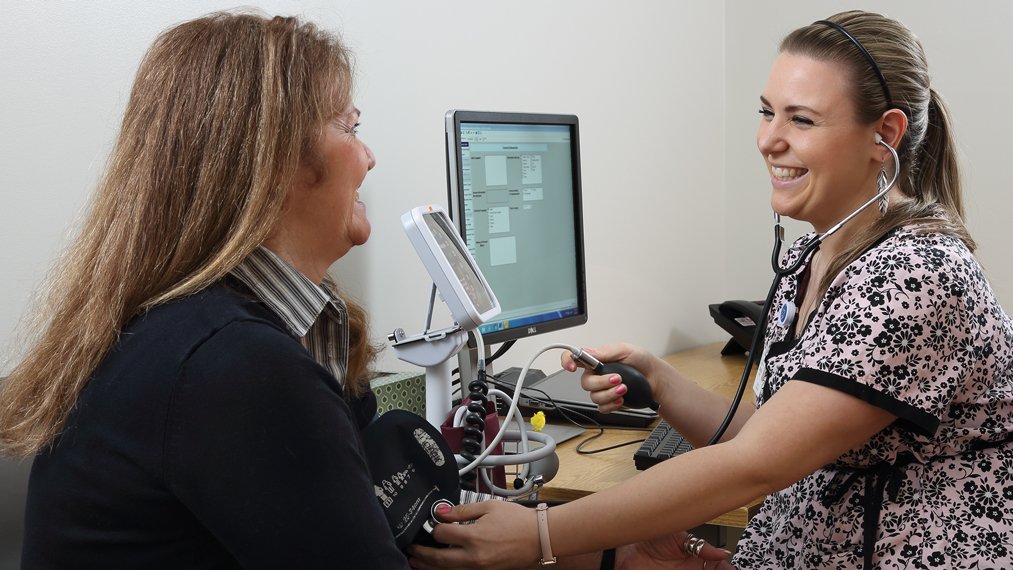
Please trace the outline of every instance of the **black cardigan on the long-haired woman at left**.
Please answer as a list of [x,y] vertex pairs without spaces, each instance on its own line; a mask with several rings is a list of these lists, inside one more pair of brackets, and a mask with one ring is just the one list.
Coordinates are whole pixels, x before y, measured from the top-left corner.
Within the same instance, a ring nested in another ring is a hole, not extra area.
[[31,470],[24,568],[407,568],[357,402],[220,284],[132,321]]

